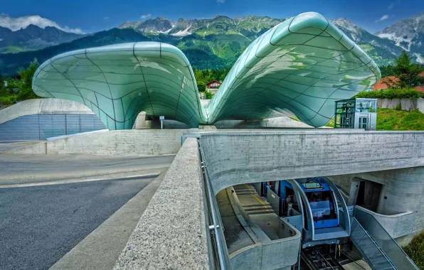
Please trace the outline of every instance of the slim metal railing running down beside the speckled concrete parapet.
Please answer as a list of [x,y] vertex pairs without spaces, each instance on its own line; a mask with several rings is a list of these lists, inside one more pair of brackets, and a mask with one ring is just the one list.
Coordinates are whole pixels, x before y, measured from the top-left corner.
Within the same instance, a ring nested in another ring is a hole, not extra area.
[[201,156],[201,180],[203,183],[206,204],[205,215],[208,225],[208,235],[210,237],[208,242],[212,249],[210,250],[209,259],[211,260],[211,266],[215,269],[231,270],[230,257],[228,255],[226,239],[223,233],[221,215],[219,213],[218,203],[216,202],[216,198],[213,193],[211,181],[209,180],[208,168],[206,167],[200,140],[198,140],[198,148]]

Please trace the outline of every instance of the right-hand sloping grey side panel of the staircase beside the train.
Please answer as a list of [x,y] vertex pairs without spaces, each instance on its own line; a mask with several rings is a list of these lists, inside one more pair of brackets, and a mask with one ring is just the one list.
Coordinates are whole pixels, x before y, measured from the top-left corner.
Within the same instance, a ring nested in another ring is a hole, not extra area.
[[355,207],[354,217],[397,269],[419,269],[373,215]]

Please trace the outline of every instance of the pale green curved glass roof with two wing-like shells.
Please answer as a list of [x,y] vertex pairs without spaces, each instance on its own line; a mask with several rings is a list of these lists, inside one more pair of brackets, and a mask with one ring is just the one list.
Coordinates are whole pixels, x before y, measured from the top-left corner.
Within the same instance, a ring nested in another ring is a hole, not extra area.
[[137,42],[74,50],[43,63],[33,77],[40,97],[81,102],[111,130],[131,129],[139,112],[191,127],[222,119],[297,117],[324,126],[334,101],[380,80],[375,63],[318,13],[284,21],[240,55],[207,107],[189,60],[178,48]]

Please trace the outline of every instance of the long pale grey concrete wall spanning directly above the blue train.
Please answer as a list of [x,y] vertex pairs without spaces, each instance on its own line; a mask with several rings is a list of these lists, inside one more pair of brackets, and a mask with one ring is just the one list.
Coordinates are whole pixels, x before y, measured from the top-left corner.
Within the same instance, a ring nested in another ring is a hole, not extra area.
[[215,193],[230,185],[424,166],[424,131],[201,134]]

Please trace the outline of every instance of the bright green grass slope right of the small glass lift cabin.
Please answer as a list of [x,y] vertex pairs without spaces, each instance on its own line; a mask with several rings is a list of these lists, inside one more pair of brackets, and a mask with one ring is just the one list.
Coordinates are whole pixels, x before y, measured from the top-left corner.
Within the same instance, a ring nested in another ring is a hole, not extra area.
[[424,114],[396,109],[377,109],[377,130],[424,130]]

